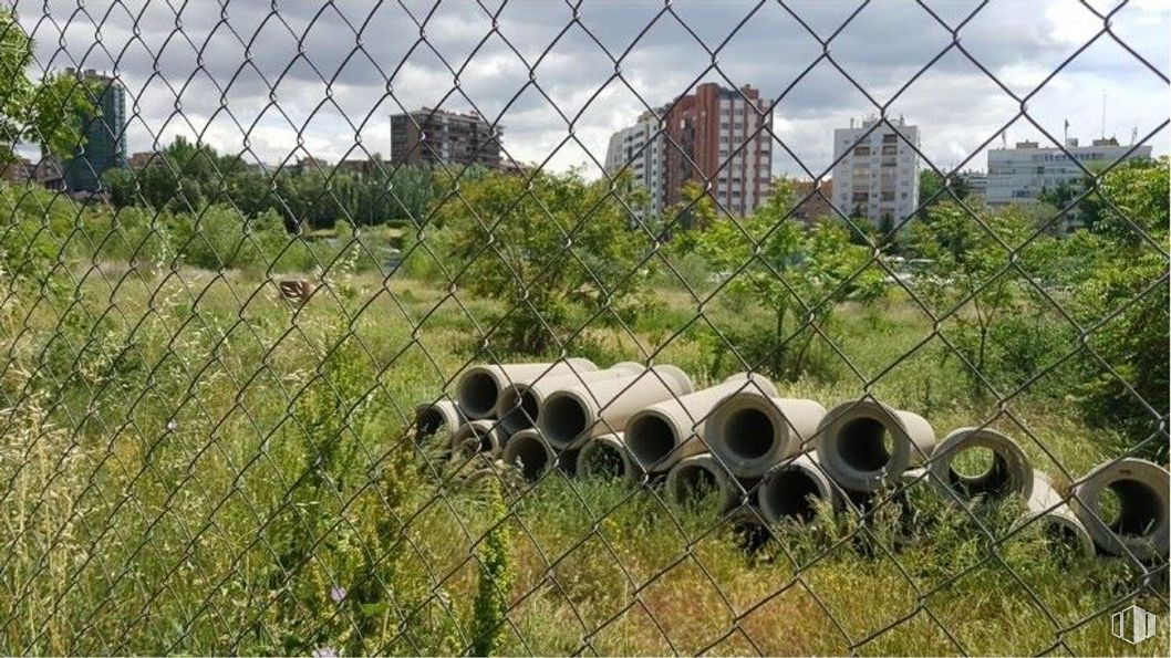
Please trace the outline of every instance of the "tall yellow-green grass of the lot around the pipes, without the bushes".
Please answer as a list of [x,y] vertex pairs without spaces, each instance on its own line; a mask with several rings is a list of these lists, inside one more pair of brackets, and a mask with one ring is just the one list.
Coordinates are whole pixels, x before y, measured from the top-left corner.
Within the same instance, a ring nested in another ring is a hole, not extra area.
[[[864,526],[843,513],[778,528],[749,554],[711,509],[648,487],[447,464],[404,429],[499,308],[426,280],[342,267],[296,307],[245,270],[68,275],[76,294],[5,306],[6,652],[460,651],[485,536],[508,556],[506,653],[1039,652],[1134,587],[1122,561],[1073,558],[1035,533],[993,554],[927,492],[912,492],[911,520],[893,506]],[[656,361],[703,383],[737,369],[713,358],[710,333],[667,340],[696,316],[690,293],[657,297],[630,333],[591,328],[584,354],[608,364],[663,347]],[[720,328],[744,313],[717,299],[706,317]],[[834,322],[858,372],[889,369],[871,392],[940,436],[997,417],[938,336],[924,342],[931,322],[905,295]],[[816,375],[782,392],[857,397],[844,361],[816,354]],[[1074,475],[1124,444],[1060,400],[1023,396],[1011,411],[994,426],[1059,484],[1040,444]],[[1004,533],[1018,512],[978,514]],[[1165,645],[1159,632],[1148,646]],[[1102,618],[1060,639],[1132,649]]]

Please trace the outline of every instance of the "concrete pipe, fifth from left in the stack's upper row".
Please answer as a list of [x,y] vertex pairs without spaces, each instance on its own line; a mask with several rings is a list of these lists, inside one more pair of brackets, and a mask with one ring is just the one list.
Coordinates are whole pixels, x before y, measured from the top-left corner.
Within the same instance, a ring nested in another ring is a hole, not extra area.
[[704,423],[704,440],[733,475],[760,478],[786,457],[813,447],[826,407],[814,400],[732,393]]

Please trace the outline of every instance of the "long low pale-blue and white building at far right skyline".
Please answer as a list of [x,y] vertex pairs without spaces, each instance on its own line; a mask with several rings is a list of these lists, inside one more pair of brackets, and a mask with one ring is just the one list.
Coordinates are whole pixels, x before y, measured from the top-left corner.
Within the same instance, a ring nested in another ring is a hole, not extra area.
[[1095,139],[1089,146],[1080,146],[1077,139],[1069,138],[1064,150],[1041,148],[1036,142],[1018,142],[1013,149],[988,149],[987,201],[989,206],[1004,206],[1034,200],[1043,190],[1077,183],[1086,174],[1083,167],[1093,171],[1119,159],[1149,157],[1149,145],[1123,146],[1112,137]]

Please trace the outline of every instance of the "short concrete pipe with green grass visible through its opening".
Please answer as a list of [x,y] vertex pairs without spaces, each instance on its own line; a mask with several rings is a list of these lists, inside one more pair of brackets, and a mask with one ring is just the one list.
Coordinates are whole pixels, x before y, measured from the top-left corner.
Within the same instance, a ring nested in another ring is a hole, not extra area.
[[[965,472],[963,462],[979,453],[988,457],[987,467],[977,464],[978,472]],[[959,464],[958,464],[959,462]],[[977,496],[991,499],[1033,493],[1033,467],[1016,441],[987,427],[961,427],[947,434],[936,446],[927,461],[931,482],[946,500],[961,501]]]

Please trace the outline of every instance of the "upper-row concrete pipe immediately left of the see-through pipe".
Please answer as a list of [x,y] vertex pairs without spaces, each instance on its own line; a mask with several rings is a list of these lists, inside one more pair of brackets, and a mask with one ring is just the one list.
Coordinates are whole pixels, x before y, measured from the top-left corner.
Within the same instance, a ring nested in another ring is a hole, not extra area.
[[817,427],[817,458],[843,488],[869,493],[898,484],[936,443],[922,416],[869,399],[840,404]]

